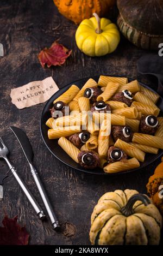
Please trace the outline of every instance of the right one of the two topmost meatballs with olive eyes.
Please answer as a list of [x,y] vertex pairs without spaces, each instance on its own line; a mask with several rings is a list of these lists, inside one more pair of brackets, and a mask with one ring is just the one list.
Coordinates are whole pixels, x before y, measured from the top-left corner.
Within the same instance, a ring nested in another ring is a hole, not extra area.
[[112,100],[116,100],[117,102],[124,102],[128,106],[130,106],[131,103],[133,102],[133,97],[132,97],[131,92],[129,92],[128,90],[125,90],[125,91],[116,93],[112,97]]

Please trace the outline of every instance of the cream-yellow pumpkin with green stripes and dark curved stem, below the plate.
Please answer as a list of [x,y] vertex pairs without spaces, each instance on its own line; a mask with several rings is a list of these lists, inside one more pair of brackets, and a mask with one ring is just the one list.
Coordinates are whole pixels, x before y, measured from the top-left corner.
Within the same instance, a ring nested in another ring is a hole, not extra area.
[[104,194],[91,216],[92,245],[158,245],[162,217],[147,195],[136,190]]

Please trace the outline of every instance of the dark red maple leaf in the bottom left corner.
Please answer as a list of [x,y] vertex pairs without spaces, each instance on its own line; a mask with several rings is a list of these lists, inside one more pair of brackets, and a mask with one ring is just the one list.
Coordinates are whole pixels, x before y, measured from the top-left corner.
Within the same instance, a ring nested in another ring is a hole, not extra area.
[[25,227],[17,223],[17,216],[8,218],[5,215],[0,227],[0,245],[28,245],[29,234]]

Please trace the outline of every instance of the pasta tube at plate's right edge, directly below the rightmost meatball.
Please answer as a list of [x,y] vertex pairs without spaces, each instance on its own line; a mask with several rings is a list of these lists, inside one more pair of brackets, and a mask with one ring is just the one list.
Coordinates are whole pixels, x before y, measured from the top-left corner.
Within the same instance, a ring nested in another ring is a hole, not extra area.
[[133,142],[151,147],[161,148],[163,150],[163,138],[160,138],[158,136],[143,133],[134,133]]

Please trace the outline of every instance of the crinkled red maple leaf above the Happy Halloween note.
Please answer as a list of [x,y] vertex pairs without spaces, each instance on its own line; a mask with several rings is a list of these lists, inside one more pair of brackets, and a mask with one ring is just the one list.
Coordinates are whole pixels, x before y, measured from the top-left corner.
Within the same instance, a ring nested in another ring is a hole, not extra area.
[[66,58],[71,55],[72,50],[68,50],[62,44],[59,44],[58,41],[54,41],[50,48],[45,47],[39,53],[39,61],[41,66],[44,68],[45,64],[47,67],[54,66],[61,66],[65,63]]

